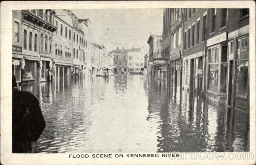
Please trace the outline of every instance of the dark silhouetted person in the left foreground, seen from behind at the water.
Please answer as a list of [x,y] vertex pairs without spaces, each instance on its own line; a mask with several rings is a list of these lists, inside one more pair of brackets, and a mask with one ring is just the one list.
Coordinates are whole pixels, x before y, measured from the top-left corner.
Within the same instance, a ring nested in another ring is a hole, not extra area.
[[12,75],[12,153],[35,153],[45,122],[38,99],[16,88]]

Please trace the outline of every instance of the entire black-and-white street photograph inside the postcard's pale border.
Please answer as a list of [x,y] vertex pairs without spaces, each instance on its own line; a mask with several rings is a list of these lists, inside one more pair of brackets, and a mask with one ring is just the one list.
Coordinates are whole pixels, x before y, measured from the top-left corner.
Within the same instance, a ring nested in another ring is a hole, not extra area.
[[250,151],[249,9],[12,17],[13,153]]

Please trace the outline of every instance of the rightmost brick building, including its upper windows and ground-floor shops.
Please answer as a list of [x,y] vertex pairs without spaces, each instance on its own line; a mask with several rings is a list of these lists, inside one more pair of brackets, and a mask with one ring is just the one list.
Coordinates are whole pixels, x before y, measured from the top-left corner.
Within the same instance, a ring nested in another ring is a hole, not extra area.
[[249,9],[207,12],[207,97],[249,113]]

